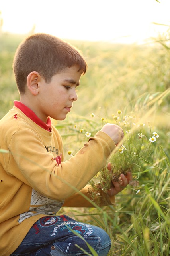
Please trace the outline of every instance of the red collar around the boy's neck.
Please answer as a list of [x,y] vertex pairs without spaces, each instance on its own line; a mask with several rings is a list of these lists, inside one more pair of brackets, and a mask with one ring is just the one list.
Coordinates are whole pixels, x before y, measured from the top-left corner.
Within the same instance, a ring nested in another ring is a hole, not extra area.
[[14,106],[19,108],[27,117],[29,117],[33,122],[38,124],[43,129],[51,132],[51,119],[48,117],[47,123],[43,122],[36,114],[27,106],[25,106],[20,101],[14,100]]

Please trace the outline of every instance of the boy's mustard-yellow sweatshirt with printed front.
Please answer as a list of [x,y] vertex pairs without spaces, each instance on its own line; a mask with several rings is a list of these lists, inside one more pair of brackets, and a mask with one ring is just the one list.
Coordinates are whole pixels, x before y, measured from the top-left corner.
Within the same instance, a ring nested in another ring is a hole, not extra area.
[[0,256],[14,252],[31,226],[56,214],[65,199],[81,206],[76,192],[86,194],[86,184],[114,149],[113,140],[100,131],[63,162],[57,129],[45,130],[14,106],[0,120]]

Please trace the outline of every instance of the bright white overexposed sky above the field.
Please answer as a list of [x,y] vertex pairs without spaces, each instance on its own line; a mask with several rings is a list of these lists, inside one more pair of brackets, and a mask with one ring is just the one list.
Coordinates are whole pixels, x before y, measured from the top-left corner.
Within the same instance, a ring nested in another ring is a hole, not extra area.
[[[159,3],[160,2],[160,3]],[[170,0],[1,0],[3,32],[140,43],[170,28]],[[153,22],[168,26],[154,25]]]

